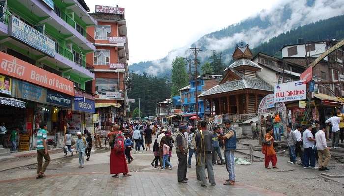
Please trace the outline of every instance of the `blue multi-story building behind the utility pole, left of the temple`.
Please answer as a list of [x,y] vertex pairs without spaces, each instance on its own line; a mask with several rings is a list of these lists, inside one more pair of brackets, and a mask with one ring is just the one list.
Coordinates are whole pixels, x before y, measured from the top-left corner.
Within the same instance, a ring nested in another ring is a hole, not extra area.
[[[205,74],[197,79],[197,95],[201,95],[204,91],[214,87],[218,84],[221,75]],[[180,91],[180,103],[182,110],[182,117],[184,122],[188,122],[189,118],[196,115],[196,82],[190,80],[189,85],[185,86]],[[198,117],[204,118],[205,114],[210,116],[210,105],[205,105],[203,99],[198,99]]]

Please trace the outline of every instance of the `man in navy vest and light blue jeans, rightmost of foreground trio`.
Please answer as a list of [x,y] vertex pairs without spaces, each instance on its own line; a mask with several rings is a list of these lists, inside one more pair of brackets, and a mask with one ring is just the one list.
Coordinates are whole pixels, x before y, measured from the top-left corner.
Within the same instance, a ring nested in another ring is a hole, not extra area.
[[235,172],[234,172],[234,150],[236,149],[236,132],[231,126],[230,121],[225,121],[224,136],[221,137],[225,141],[225,160],[226,169],[229,173],[229,179],[226,180],[224,185],[235,185]]

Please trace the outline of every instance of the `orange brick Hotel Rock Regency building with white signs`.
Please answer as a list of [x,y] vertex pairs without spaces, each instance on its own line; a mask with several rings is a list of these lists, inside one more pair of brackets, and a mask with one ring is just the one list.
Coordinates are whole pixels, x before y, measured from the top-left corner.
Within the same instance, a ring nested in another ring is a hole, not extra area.
[[98,25],[87,28],[87,32],[95,39],[96,50],[87,55],[87,62],[95,73],[93,89],[98,125],[106,134],[113,123],[126,121],[127,27],[124,8],[96,5],[91,16]]

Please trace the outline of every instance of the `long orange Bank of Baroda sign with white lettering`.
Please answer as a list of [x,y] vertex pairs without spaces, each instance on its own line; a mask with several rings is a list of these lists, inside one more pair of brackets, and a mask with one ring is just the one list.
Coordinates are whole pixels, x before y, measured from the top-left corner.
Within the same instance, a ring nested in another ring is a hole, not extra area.
[[74,84],[72,81],[3,52],[0,52],[0,74],[74,96]]

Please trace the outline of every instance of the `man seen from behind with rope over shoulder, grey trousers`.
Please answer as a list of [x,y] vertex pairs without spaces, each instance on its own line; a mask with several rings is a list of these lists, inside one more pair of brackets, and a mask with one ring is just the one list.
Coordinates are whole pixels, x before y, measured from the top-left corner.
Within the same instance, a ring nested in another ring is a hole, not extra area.
[[206,187],[205,165],[208,171],[209,182],[215,186],[214,170],[212,165],[212,133],[206,129],[207,122],[201,121],[201,130],[196,134],[197,164],[200,166],[201,186]]

